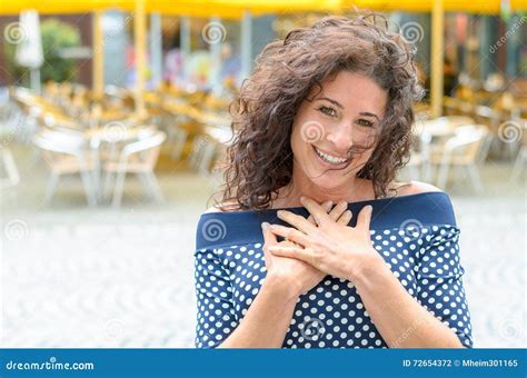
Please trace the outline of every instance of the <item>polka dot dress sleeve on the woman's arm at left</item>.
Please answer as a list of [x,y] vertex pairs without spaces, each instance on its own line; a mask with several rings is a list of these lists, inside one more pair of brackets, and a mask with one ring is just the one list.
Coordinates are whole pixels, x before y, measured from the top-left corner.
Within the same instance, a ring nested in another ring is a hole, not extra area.
[[237,326],[232,287],[221,265],[221,249],[208,248],[195,252],[197,348],[217,347]]

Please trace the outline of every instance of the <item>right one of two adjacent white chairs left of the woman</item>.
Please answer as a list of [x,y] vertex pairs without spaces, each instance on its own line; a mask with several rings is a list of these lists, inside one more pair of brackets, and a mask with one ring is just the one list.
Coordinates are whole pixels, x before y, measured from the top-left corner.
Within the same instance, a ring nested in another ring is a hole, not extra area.
[[158,202],[163,200],[158,181],[153,175],[153,168],[159,158],[161,145],[166,139],[167,135],[160,130],[155,133],[138,133],[138,140],[126,145],[117,159],[111,159],[103,165],[106,171],[106,193],[109,191],[113,178],[116,179],[112,197],[113,207],[117,208],[121,205],[127,173],[136,173],[151,197]]

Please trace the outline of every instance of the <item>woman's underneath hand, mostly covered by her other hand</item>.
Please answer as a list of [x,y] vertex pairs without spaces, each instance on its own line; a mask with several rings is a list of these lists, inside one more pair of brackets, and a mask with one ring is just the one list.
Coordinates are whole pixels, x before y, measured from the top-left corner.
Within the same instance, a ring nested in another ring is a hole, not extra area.
[[[351,212],[347,210],[347,202],[339,202],[332,210],[331,206],[331,201],[322,203],[322,208],[326,209],[326,211],[329,211],[329,216],[332,219],[344,225],[349,223],[351,220]],[[311,217],[309,220],[315,223]],[[269,251],[270,246],[278,245],[287,247],[292,246],[294,243],[288,240],[278,242],[277,236],[269,229],[269,223],[265,222],[261,227],[264,231],[264,256],[267,268],[266,281],[271,278],[271,281],[278,282],[278,285],[292,287],[296,296],[300,296],[301,294],[312,289],[324,279],[324,277],[326,277],[326,272],[318,270],[307,262],[272,255]]]

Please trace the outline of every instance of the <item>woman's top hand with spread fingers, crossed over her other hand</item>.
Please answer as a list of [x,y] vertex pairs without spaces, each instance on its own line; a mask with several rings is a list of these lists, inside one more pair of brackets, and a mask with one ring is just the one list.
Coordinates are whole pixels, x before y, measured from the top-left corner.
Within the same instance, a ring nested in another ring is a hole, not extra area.
[[[270,230],[304,248],[275,246],[269,249],[271,253],[300,259],[328,275],[349,280],[358,277],[364,268],[384,261],[370,240],[371,206],[360,210],[356,227],[349,227],[347,223],[332,220],[312,199],[302,197],[300,201],[316,225],[301,216],[280,210],[278,218],[294,228],[271,225]],[[337,206],[346,206],[345,203]]]

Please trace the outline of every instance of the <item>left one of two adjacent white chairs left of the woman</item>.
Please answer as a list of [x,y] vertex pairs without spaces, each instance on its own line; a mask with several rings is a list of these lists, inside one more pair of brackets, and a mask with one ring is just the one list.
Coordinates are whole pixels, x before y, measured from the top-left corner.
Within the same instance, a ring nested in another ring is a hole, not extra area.
[[50,205],[60,176],[79,173],[90,207],[97,205],[97,188],[91,173],[96,167],[88,141],[82,133],[42,129],[33,137],[50,169],[44,203]]

